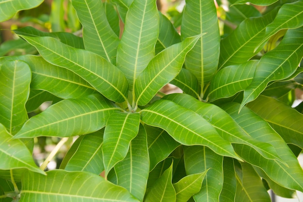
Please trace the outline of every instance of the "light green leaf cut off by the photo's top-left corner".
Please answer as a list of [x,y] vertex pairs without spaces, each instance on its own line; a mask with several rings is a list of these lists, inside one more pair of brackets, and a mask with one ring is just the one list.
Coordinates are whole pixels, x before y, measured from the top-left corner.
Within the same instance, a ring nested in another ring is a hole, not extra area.
[[37,7],[43,0],[1,0],[0,22],[13,17],[18,11]]

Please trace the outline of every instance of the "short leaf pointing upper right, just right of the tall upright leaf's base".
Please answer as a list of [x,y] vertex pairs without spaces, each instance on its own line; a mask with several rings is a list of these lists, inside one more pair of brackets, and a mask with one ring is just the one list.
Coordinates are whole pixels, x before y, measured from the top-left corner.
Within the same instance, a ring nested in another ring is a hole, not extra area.
[[231,97],[252,82],[258,61],[251,60],[231,65],[217,72],[211,82],[209,101]]

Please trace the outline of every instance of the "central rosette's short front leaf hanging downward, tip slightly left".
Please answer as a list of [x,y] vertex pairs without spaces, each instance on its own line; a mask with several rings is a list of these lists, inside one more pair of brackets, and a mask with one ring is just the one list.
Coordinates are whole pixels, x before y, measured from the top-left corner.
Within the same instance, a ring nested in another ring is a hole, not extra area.
[[140,114],[113,112],[106,123],[102,146],[105,175],[127,155],[139,130]]

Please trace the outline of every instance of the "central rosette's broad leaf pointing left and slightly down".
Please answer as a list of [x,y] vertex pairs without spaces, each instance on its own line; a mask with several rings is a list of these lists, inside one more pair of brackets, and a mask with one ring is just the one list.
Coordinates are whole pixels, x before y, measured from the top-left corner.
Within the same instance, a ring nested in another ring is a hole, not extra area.
[[65,99],[31,117],[15,138],[70,137],[92,133],[103,128],[109,115],[116,110],[119,109],[100,94]]

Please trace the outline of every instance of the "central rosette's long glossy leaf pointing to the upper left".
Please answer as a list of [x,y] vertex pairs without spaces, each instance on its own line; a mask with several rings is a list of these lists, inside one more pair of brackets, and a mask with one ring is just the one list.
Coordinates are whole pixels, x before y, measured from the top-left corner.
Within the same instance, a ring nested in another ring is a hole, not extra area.
[[115,102],[126,100],[126,78],[116,66],[101,56],[67,46],[50,37],[22,37],[35,46],[47,62],[75,72],[108,99]]

